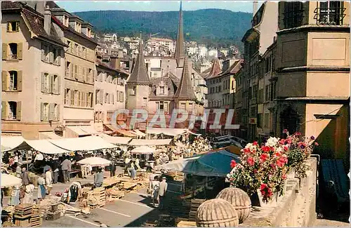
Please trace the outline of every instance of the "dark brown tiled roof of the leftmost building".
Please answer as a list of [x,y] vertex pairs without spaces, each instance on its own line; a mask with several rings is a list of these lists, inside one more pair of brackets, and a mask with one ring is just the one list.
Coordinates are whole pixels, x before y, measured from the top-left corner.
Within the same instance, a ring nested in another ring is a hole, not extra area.
[[44,15],[38,13],[34,8],[23,4],[20,1],[1,1],[1,11],[22,11],[22,18],[25,20],[28,29],[35,36],[48,39],[57,43],[60,46],[67,46],[63,43],[58,36],[55,27],[53,27],[53,22],[51,22],[50,34],[47,34],[44,29]]

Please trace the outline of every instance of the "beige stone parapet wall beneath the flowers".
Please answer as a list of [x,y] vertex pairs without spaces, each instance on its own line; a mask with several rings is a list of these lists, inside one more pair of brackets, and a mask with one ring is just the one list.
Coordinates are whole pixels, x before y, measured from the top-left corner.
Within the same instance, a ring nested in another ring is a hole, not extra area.
[[289,179],[284,196],[272,208],[253,207],[239,227],[308,227],[317,220],[317,159],[307,160],[307,177]]

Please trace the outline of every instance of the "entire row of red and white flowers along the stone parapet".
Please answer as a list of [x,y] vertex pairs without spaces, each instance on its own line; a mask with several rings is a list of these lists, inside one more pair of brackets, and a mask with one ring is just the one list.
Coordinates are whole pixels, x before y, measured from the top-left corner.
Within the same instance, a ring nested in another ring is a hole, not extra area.
[[[287,131],[284,130],[284,133]],[[244,189],[249,195],[259,189],[263,201],[272,199],[274,193],[282,196],[286,174],[291,168],[301,177],[306,172],[303,161],[310,156],[314,137],[300,140],[299,133],[289,135],[286,139],[269,138],[264,145],[258,142],[249,143],[241,150],[240,163],[232,161],[232,171],[227,175],[226,182],[231,187]]]

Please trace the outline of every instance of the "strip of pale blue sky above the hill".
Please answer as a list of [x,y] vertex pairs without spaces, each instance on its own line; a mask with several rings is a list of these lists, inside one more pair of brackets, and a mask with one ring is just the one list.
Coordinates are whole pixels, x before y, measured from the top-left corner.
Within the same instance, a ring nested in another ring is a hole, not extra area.
[[[55,1],[68,12],[81,11],[178,11],[180,1]],[[260,4],[262,4],[260,2]],[[259,6],[260,6],[259,4]],[[252,1],[183,1],[184,11],[220,8],[252,13]]]

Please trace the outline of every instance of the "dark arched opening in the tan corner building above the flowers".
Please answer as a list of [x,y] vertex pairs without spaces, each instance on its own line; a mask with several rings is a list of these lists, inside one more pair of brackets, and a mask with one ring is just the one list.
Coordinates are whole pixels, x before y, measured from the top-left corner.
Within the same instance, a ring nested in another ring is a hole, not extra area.
[[287,107],[280,113],[280,132],[286,129],[290,134],[296,133],[299,130],[299,117],[298,113],[291,107]]

